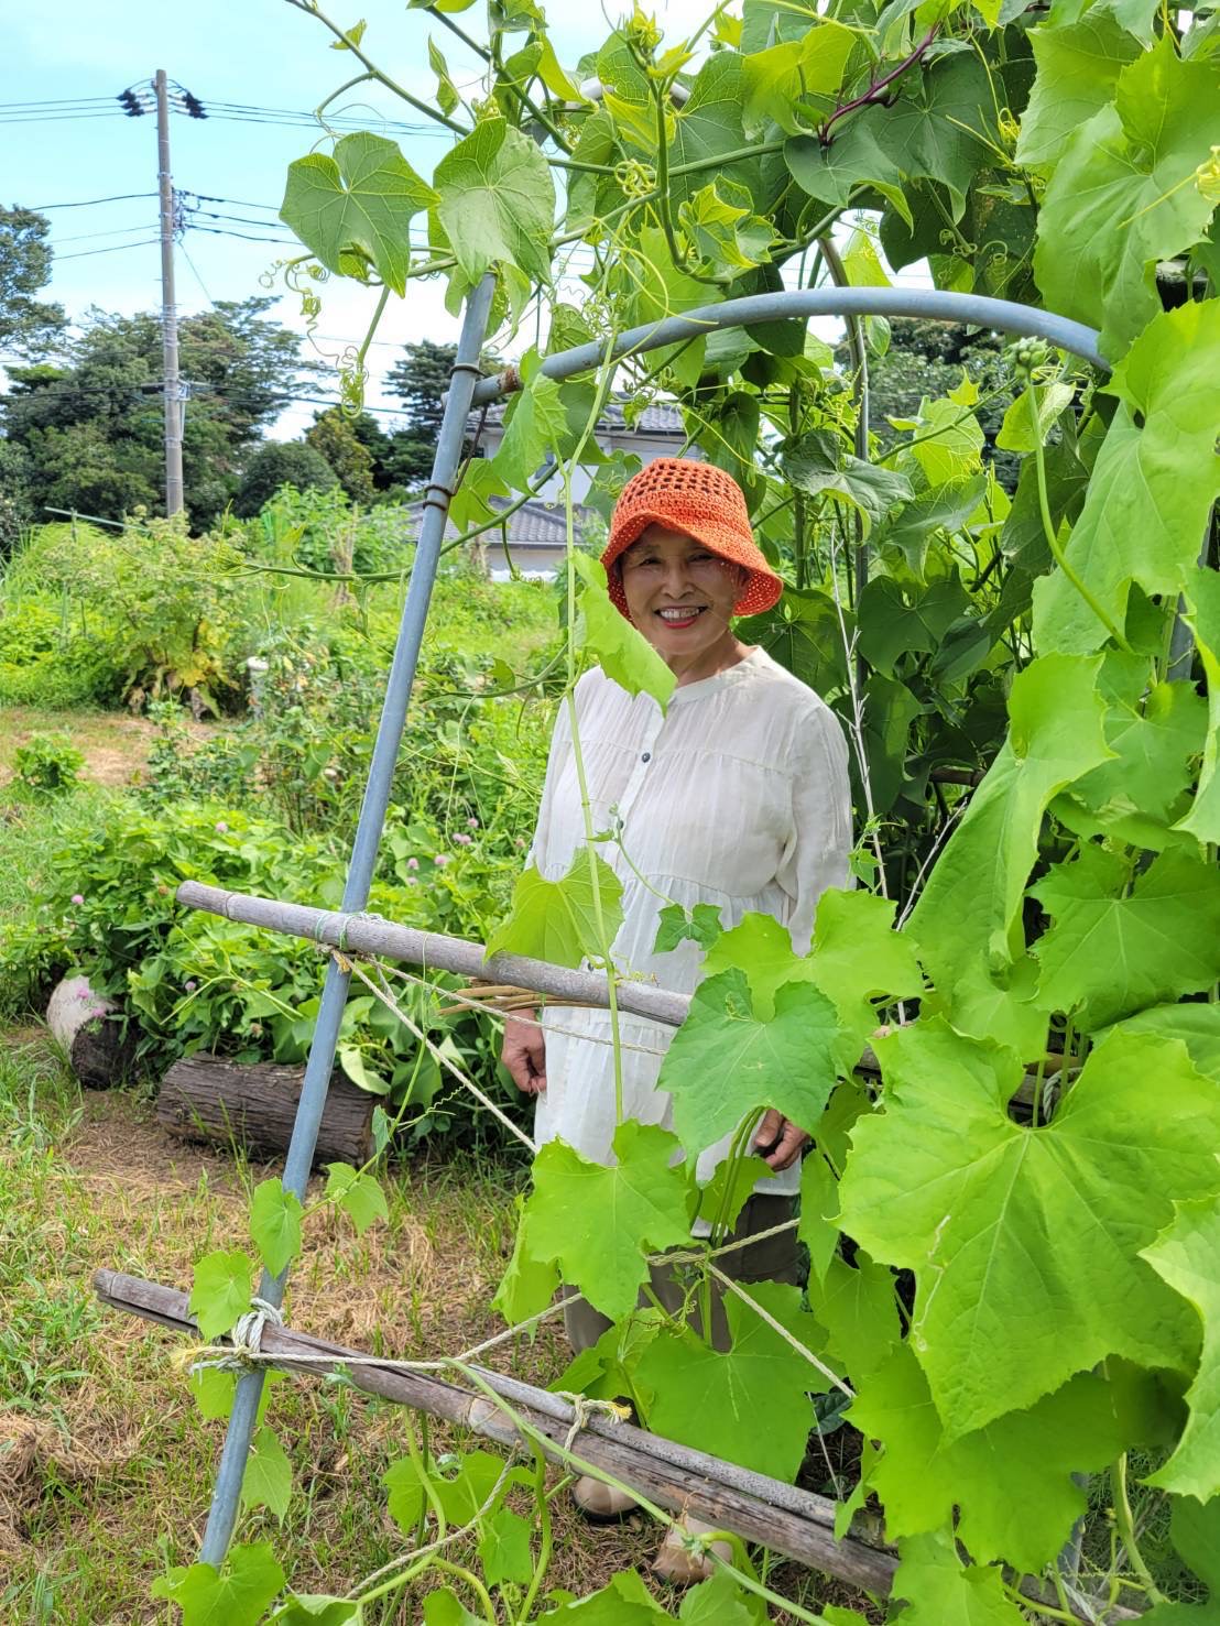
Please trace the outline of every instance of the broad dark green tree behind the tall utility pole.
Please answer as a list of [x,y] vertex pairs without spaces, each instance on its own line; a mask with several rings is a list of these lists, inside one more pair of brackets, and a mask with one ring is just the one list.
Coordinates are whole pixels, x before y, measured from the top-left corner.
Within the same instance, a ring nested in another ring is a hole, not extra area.
[[[265,311],[221,302],[179,328],[190,385],[182,431],[185,506],[203,528],[224,509],[260,431],[278,415],[303,363],[299,338]],[[59,366],[10,367],[3,431],[29,467],[29,504],[122,519],[164,511],[161,327],[151,312],[91,311]]]

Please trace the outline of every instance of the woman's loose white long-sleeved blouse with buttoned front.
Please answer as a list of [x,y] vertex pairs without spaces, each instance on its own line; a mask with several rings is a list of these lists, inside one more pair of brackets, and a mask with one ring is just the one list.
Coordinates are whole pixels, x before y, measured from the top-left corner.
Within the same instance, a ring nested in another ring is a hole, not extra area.
[[[847,881],[852,839],[847,748],[830,707],[763,649],[752,649],[727,672],[677,688],[665,715],[649,694],[633,699],[599,667],[576,686],[576,715],[594,831],[620,829],[621,849],[599,841],[595,850],[623,885],[623,925],[613,941],[621,972],[693,992],[703,950],[686,940],[654,953],[667,901],[688,911],[714,904],[725,930],[748,912],[773,915],[789,928],[795,951],[807,953],[818,898]],[[584,839],[563,706],[530,857],[545,880],[558,881]],[[543,1028],[547,1089],[538,1096],[535,1140],[558,1137],[582,1156],[610,1163],[610,1015],[556,1006],[543,1015]],[[673,1029],[620,1016],[620,1036],[625,1114],[672,1127],[657,1073]],[[729,1140],[698,1148],[701,1182],[727,1156]],[[799,1184],[797,1163],[758,1190],[791,1193]]]

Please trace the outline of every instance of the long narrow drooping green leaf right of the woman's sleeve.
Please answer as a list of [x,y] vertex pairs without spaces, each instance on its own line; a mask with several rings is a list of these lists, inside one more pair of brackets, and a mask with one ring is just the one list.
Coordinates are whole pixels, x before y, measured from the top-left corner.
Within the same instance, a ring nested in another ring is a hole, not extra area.
[[945,995],[966,971],[999,967],[1020,954],[1018,914],[1046,805],[1109,756],[1100,667],[1100,659],[1043,655],[1013,678],[1010,738],[945,846],[908,927]]

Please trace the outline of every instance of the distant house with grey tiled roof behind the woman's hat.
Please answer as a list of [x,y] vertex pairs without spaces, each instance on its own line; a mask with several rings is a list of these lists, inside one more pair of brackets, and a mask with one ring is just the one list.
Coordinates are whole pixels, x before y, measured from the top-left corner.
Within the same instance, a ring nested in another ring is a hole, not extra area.
[[[472,434],[478,424],[478,413],[473,413],[470,418]],[[503,439],[504,403],[496,402],[488,410],[486,420],[483,421],[478,449],[486,457],[495,457]],[[646,406],[639,413],[634,424],[626,423],[623,405],[620,402],[612,402],[597,426],[597,444],[607,454],[623,450],[639,457],[644,463],[651,463],[654,457],[680,455],[686,446],[686,431],[682,423],[680,410],[669,402]],[[691,455],[698,455],[698,452],[691,452]],[[592,468],[577,467],[573,473],[573,498],[576,504],[574,520],[577,537],[582,537],[587,532],[597,532],[602,524],[600,515],[582,502],[595,473],[595,465]],[[509,504],[506,501],[493,499],[493,506],[508,507]],[[412,509],[418,514],[416,504],[413,504]],[[446,525],[446,535],[457,535],[452,524]],[[509,574],[509,566],[504,559],[501,532],[490,530],[480,538],[480,541],[483,545],[491,576],[496,579],[506,577]],[[512,566],[519,574],[553,576],[556,566],[566,553],[566,548],[568,530],[563,514],[563,480],[556,473],[542,486],[535,498],[509,515],[508,550],[512,558]]]

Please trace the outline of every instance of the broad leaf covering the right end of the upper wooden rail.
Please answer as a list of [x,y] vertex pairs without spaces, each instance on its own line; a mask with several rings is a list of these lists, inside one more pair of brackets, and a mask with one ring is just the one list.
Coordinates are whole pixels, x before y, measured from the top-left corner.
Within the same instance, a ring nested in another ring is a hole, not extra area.
[[743,971],[701,982],[659,1078],[673,1098],[673,1128],[686,1154],[716,1145],[755,1107],[778,1107],[802,1127],[817,1124],[834,1085],[836,1037],[838,1013],[812,984],[781,987],[774,1016],[761,1021]]

